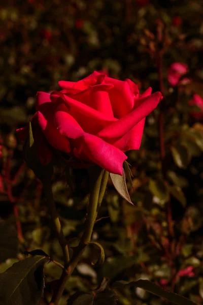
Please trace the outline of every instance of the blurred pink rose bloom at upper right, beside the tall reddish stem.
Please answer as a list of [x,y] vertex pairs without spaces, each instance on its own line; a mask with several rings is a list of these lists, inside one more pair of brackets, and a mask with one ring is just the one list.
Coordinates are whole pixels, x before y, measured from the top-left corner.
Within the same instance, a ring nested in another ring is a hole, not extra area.
[[181,76],[186,74],[188,66],[182,63],[173,63],[168,69],[167,79],[172,86],[176,86],[179,83]]

